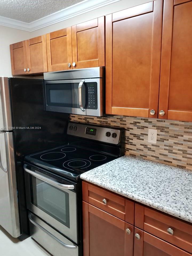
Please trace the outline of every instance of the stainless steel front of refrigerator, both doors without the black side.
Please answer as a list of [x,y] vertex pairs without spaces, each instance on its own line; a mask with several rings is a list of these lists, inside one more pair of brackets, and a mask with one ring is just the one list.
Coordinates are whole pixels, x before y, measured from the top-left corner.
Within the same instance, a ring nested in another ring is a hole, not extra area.
[[9,83],[0,77],[0,225],[20,236]]

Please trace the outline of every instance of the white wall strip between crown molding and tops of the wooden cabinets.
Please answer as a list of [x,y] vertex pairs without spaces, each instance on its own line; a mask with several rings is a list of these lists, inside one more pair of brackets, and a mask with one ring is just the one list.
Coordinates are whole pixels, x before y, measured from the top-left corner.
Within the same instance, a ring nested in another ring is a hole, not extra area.
[[58,22],[54,25],[44,27],[43,29],[33,31],[31,32],[31,38],[151,1],[153,0],[121,0],[96,10],[89,11],[88,13],[78,15],[74,18],[67,19],[66,21]]

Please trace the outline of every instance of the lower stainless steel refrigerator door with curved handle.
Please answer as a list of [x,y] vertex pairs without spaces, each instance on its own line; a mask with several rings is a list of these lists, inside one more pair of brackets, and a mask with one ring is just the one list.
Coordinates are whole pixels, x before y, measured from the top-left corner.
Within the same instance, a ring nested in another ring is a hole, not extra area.
[[21,235],[12,132],[0,132],[0,225],[13,237]]

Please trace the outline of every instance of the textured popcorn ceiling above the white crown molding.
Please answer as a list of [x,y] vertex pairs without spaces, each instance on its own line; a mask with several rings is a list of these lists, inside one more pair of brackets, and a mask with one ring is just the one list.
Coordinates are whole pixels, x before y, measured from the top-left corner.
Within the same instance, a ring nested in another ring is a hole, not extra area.
[[0,16],[30,23],[82,0],[0,0]]

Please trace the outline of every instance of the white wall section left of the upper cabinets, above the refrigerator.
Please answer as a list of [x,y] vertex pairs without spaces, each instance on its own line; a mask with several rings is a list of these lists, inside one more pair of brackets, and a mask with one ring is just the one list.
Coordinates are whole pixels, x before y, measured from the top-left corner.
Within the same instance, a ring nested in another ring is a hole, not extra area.
[[0,26],[0,76],[11,77],[9,45],[30,38],[30,32]]

